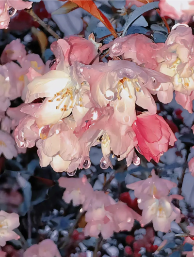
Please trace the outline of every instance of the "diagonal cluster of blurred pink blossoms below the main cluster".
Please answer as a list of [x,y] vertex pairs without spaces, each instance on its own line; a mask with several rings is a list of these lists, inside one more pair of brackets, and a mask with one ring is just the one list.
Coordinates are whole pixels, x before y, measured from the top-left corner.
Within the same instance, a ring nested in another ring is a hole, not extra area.
[[101,233],[102,237],[107,239],[113,232],[130,231],[134,220],[141,222],[142,217],[123,202],[116,203],[103,191],[93,191],[85,177],[61,177],[59,185],[66,188],[63,196],[65,202],[70,203],[72,200],[75,206],[82,204],[81,212],[87,211],[85,236],[98,237]]

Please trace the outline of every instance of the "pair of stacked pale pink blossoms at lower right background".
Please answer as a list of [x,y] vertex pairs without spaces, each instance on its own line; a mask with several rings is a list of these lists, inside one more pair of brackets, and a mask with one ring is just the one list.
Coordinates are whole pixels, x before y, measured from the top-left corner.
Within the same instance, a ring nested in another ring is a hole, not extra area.
[[127,187],[134,190],[135,197],[138,198],[138,207],[143,210],[142,227],[152,221],[155,230],[168,232],[173,220],[180,222],[180,210],[171,201],[181,200],[183,197],[168,196],[170,190],[177,187],[176,183],[160,179],[152,170],[150,178],[128,184]]

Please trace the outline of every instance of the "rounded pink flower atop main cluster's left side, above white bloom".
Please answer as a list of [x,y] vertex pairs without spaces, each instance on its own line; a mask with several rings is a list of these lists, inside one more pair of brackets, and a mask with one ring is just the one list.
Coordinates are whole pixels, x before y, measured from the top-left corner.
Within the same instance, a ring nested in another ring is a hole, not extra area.
[[51,44],[50,48],[56,58],[58,58],[58,53],[55,51],[56,44],[61,43],[62,40],[70,45],[70,51],[65,53],[65,59],[68,60],[70,65],[74,61],[89,64],[97,55],[97,47],[92,41],[79,36],[69,36]]

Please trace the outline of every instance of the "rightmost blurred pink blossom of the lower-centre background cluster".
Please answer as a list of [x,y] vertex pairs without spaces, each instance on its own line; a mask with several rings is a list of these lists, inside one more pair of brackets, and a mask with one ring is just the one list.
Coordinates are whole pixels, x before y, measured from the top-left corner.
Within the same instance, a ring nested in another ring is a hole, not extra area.
[[141,222],[142,217],[129,208],[126,204],[119,202],[117,204],[105,207],[105,210],[113,213],[114,222],[118,225],[119,229],[115,232],[130,231],[133,227],[134,220]]

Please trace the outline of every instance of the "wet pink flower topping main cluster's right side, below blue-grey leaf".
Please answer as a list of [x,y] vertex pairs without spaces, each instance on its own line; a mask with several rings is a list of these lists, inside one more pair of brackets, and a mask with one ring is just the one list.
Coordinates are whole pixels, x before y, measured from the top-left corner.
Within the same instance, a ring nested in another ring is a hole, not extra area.
[[161,61],[160,50],[163,43],[155,44],[150,38],[143,34],[132,34],[116,38],[114,41],[100,48],[103,51],[110,48],[110,56],[122,56],[123,59],[130,59],[138,65],[144,64],[146,68],[155,69]]

